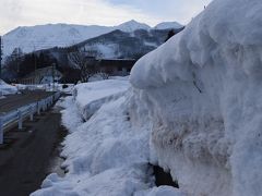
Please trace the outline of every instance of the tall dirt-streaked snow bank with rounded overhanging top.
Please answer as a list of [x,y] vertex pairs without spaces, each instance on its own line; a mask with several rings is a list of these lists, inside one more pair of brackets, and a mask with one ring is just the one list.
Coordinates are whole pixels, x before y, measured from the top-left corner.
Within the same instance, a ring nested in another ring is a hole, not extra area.
[[132,69],[152,161],[188,194],[262,194],[261,24],[260,0],[214,0]]

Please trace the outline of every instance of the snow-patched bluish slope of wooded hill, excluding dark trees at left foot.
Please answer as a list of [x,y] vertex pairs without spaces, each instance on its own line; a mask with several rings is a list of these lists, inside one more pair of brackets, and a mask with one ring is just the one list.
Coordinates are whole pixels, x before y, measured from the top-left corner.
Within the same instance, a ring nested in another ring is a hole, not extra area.
[[[45,52],[57,59],[61,66],[69,65],[67,62],[68,53],[76,50],[82,50],[86,56],[98,59],[139,59],[160,46],[168,32],[168,29],[136,29],[128,33],[117,29],[71,47],[51,48],[39,52]],[[176,33],[178,32],[180,29],[177,29]]]

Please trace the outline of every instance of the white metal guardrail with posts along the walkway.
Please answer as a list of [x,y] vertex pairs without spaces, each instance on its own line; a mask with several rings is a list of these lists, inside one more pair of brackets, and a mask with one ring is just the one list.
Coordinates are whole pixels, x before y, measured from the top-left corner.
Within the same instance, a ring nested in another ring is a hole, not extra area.
[[40,111],[46,111],[52,103],[61,96],[60,91],[57,91],[50,97],[43,100],[26,105],[16,110],[10,111],[0,115],[0,144],[3,144],[3,131],[10,124],[17,122],[19,130],[23,128],[23,121],[29,117],[29,120],[34,120],[34,114],[40,114]]

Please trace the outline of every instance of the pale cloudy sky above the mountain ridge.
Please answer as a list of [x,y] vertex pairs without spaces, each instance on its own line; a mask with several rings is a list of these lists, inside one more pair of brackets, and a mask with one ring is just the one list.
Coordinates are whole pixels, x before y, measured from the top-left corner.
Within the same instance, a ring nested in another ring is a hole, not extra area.
[[0,0],[0,35],[39,24],[119,25],[135,20],[151,26],[187,24],[212,0]]

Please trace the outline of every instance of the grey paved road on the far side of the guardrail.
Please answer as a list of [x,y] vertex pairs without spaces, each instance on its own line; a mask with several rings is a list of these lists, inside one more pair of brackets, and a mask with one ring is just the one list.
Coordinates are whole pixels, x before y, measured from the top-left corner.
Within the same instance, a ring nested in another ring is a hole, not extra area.
[[15,110],[22,106],[49,97],[52,94],[44,90],[22,90],[21,94],[5,96],[7,98],[0,99],[0,113]]

